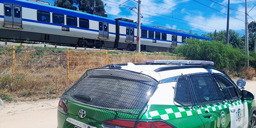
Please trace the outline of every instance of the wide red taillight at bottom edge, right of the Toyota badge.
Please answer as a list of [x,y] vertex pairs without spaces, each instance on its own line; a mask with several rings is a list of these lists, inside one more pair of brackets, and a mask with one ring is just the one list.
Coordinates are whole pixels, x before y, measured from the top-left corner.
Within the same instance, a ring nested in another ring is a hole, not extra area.
[[103,128],[175,128],[162,120],[107,120]]

